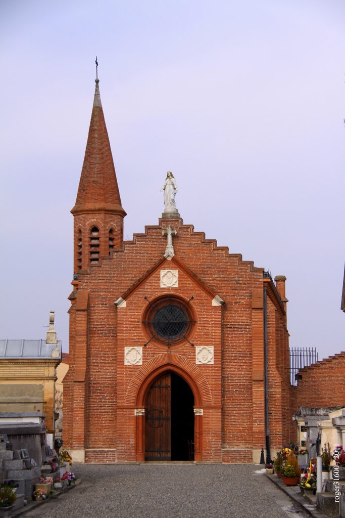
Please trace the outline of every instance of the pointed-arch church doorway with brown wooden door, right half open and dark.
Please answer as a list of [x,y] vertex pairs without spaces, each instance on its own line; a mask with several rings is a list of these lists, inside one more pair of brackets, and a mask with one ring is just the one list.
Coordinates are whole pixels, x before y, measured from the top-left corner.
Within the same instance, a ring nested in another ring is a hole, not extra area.
[[193,460],[194,396],[188,383],[164,372],[149,388],[145,406],[145,460]]

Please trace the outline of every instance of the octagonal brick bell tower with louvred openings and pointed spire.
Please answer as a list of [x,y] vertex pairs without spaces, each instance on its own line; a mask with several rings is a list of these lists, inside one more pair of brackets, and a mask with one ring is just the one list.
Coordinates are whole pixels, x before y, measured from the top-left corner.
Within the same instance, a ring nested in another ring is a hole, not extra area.
[[97,266],[122,247],[123,220],[113,156],[96,78],[94,104],[88,130],[74,217],[73,272]]

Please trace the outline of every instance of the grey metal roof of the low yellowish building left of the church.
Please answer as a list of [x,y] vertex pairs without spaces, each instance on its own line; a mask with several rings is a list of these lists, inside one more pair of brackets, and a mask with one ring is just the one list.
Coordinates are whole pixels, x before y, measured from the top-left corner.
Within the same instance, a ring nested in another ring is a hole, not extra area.
[[[53,349],[58,356],[52,356]],[[46,340],[0,340],[1,358],[61,358],[62,342],[47,343]]]

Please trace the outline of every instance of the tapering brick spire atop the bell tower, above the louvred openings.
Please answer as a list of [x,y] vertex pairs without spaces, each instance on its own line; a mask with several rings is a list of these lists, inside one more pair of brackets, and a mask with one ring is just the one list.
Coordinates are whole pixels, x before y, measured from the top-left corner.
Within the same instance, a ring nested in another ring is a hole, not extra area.
[[72,214],[107,211],[121,214],[121,198],[115,174],[113,156],[104,121],[103,109],[96,79],[94,105],[81,172],[76,205]]

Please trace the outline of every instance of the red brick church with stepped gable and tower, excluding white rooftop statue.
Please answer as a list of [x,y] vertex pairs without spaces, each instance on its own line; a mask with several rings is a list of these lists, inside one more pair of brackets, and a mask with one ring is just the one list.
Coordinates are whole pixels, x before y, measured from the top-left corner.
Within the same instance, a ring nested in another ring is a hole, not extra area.
[[290,440],[285,281],[165,211],[132,241],[98,80],[74,218],[64,445],[81,462],[259,462]]

